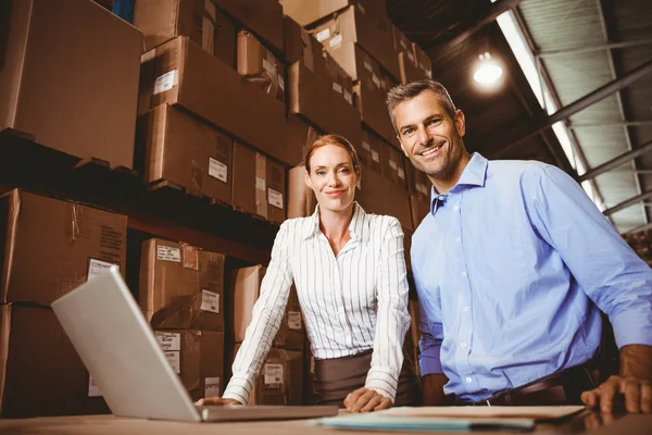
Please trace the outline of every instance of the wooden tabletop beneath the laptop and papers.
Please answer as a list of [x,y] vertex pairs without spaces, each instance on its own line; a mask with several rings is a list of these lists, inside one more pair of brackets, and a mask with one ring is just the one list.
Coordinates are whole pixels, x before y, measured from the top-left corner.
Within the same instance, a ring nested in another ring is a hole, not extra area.
[[[591,433],[591,435],[650,435],[652,414],[604,415],[585,411],[559,424],[539,424],[537,435]],[[51,417],[24,420],[0,420],[0,434],[377,434],[378,432],[336,431],[311,425],[306,420],[238,423],[180,423],[122,419],[113,415]],[[459,435],[460,432],[449,432]],[[482,431],[481,435],[496,432]],[[394,432],[393,434],[399,434]],[[412,433],[414,434],[414,433]],[[444,434],[444,432],[438,432]]]

